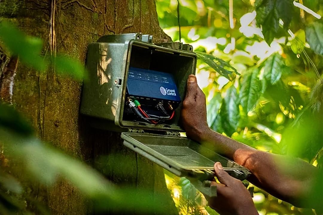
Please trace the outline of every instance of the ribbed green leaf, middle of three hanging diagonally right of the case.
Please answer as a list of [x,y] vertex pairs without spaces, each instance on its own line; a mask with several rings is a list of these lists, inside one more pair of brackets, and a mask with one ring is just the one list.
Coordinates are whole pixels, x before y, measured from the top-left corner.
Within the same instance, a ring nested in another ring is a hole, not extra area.
[[258,75],[259,70],[256,68],[242,76],[239,98],[245,115],[255,107],[261,95],[261,81]]

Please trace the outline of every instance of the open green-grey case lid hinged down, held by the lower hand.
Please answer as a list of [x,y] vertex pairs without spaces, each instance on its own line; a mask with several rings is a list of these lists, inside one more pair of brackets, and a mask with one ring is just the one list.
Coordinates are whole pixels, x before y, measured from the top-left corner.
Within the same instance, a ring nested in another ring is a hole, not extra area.
[[186,137],[123,132],[124,145],[180,177],[211,180],[214,163],[220,162],[231,176],[244,180],[250,172],[234,161]]

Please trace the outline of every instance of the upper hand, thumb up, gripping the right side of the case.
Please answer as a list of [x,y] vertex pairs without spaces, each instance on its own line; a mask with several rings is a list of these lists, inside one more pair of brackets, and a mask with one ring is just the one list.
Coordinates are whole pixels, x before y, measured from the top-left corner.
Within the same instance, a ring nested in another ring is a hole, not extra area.
[[195,75],[188,77],[181,116],[186,135],[195,141],[201,141],[204,134],[211,130],[206,121],[205,95],[197,85]]

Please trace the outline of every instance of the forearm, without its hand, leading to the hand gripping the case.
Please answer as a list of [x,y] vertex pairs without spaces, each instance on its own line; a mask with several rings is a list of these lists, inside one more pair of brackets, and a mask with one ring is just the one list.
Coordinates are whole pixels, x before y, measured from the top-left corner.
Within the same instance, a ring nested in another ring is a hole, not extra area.
[[247,168],[256,186],[282,200],[298,205],[307,198],[317,169],[296,158],[255,150],[212,130],[201,135],[202,144]]

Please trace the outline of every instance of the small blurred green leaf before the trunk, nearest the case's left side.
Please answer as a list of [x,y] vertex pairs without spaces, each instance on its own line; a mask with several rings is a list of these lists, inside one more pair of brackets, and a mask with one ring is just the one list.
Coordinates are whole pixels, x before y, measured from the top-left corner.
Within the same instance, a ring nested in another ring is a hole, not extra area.
[[58,74],[68,75],[76,80],[86,78],[87,73],[83,64],[78,60],[64,55],[57,55],[53,64]]

